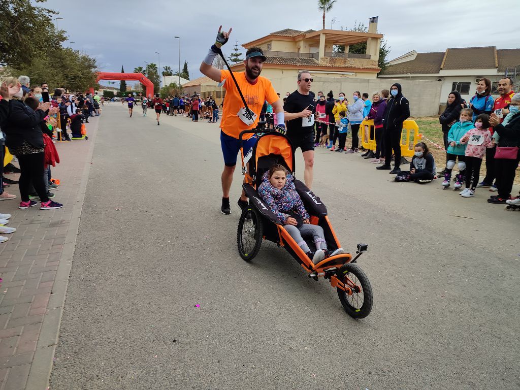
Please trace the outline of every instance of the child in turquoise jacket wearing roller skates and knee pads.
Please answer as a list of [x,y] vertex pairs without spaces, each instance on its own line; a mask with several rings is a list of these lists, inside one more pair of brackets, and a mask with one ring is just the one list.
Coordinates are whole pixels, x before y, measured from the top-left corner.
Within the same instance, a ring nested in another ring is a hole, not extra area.
[[446,173],[444,174],[443,187],[449,187],[451,180],[451,170],[455,166],[455,162],[459,159],[459,174],[456,176],[456,183],[454,185],[455,188],[461,188],[462,183],[465,180],[466,174],[466,145],[461,144],[460,139],[464,134],[469,132],[475,126],[473,125],[472,120],[473,111],[469,108],[463,108],[460,111],[460,119],[458,122],[454,123],[448,132],[448,150],[446,150],[447,155],[447,163],[446,163]]

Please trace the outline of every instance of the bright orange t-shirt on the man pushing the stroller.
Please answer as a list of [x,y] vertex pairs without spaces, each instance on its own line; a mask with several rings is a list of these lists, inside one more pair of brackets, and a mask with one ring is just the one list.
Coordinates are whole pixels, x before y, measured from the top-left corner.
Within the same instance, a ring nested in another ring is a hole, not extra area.
[[[222,83],[224,79],[226,80],[224,83],[226,98],[224,99],[220,128],[225,134],[238,139],[240,132],[256,127],[256,124],[260,120],[260,112],[262,111],[264,101],[267,100],[267,102],[272,105],[279,97],[275,88],[272,87],[271,82],[265,77],[258,76],[256,83],[251,84],[246,80],[244,72],[233,72],[233,75],[235,75],[235,79],[237,79],[237,83],[240,86],[245,101],[248,103],[249,109],[256,114],[255,122],[252,125],[248,126],[240,120],[237,114],[240,109],[244,107],[244,103],[229,71],[221,70],[220,82]],[[248,139],[252,136],[253,134],[244,134],[243,138]]]

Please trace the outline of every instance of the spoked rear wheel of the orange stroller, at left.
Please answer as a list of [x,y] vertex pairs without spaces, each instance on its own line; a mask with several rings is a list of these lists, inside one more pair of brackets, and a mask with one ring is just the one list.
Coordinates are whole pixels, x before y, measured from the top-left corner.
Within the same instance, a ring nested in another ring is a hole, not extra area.
[[262,220],[252,206],[247,206],[242,211],[238,223],[237,243],[240,257],[250,261],[260,250],[263,236]]

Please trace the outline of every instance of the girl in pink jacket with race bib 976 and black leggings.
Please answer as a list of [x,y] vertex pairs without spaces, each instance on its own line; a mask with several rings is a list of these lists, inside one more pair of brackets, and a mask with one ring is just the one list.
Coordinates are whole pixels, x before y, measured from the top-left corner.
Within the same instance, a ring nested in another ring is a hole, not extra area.
[[493,147],[489,126],[489,115],[479,114],[475,118],[475,128],[472,128],[460,139],[461,144],[467,144],[465,152],[466,188],[460,192],[461,197],[472,198],[475,196],[475,188],[477,187],[480,176],[482,158],[486,154],[486,148]]

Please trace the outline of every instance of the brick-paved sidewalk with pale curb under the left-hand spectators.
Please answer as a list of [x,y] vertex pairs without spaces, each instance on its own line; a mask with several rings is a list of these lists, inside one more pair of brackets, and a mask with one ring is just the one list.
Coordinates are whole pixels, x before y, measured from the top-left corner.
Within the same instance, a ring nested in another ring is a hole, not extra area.
[[0,202],[17,228],[0,244],[0,390],[48,388],[98,123],[87,124],[88,140],[55,144],[61,209],[19,210],[16,184],[6,191],[17,199]]

